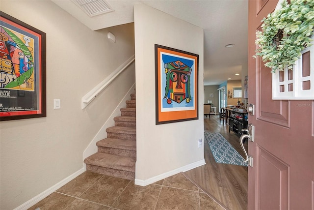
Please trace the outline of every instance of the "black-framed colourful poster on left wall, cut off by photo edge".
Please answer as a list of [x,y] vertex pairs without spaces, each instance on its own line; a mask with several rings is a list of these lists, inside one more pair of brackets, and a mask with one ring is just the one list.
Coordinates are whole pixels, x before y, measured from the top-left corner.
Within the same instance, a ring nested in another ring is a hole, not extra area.
[[0,120],[46,117],[46,33],[0,12]]

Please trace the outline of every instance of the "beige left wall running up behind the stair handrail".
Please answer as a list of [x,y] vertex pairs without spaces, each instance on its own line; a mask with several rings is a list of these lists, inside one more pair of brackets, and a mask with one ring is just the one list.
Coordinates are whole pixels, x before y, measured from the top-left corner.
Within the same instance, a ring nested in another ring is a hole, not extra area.
[[1,0],[1,11],[47,33],[47,117],[0,122],[0,209],[9,210],[83,168],[83,151],[135,82],[134,64],[84,110],[81,97],[134,55],[134,27],[92,31],[50,0]]

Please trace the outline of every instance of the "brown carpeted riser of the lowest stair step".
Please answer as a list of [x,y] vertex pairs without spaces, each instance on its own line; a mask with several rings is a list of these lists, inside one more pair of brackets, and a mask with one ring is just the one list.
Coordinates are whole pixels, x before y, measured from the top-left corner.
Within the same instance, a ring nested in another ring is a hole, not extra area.
[[91,171],[98,174],[104,174],[106,176],[112,176],[112,177],[119,177],[122,179],[127,180],[134,180],[135,179],[135,173],[129,172],[129,171],[122,171],[112,168],[105,168],[101,166],[95,166],[86,164],[86,171]]

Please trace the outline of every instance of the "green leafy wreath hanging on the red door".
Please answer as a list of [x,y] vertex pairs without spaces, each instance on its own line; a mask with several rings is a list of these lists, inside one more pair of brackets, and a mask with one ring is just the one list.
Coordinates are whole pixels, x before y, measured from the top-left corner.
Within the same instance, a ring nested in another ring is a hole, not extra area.
[[262,31],[256,32],[257,56],[265,66],[283,71],[292,69],[301,51],[311,46],[314,27],[314,0],[287,0],[282,8],[275,10],[262,20]]

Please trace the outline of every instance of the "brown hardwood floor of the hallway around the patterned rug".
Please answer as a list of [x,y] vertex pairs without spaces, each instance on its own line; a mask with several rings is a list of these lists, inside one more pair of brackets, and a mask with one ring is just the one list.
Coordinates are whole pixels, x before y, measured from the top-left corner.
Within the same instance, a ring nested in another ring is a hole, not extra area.
[[[242,156],[239,135],[229,133],[228,124],[220,121],[219,116],[204,118],[204,130],[221,133]],[[247,150],[247,142],[244,144]],[[220,203],[226,210],[247,210],[247,167],[216,163],[209,145],[204,141],[206,165],[184,172],[184,175],[196,183]]]

